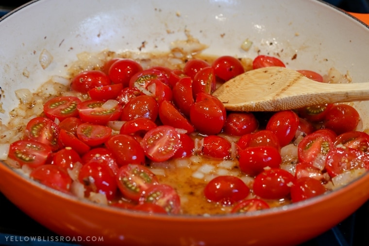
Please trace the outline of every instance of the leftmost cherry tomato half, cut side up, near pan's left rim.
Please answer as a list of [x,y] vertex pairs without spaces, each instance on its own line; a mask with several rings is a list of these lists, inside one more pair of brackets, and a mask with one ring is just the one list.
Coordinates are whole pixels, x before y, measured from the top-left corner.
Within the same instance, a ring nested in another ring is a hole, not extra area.
[[26,164],[35,168],[45,164],[50,154],[51,148],[48,145],[36,141],[18,140],[10,144],[8,157],[20,166]]

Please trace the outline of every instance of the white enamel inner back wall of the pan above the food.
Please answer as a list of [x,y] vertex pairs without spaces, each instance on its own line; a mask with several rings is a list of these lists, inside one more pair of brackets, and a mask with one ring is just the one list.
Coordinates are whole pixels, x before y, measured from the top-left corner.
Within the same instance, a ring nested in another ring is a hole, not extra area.
[[[259,50],[291,68],[335,67],[353,82],[369,81],[368,27],[317,0],[39,0],[0,22],[0,119],[17,105],[15,90],[65,75],[82,51],[138,51],[142,42],[142,51],[168,51],[185,30],[209,46],[206,54],[253,58]],[[247,52],[245,39],[253,42]],[[43,49],[53,56],[46,69]],[[367,118],[367,104],[357,105]]]

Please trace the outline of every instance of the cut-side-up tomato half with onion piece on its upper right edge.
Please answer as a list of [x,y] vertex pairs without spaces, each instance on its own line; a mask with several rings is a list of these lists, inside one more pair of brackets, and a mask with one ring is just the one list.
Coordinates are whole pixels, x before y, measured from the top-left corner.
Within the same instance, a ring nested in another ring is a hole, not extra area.
[[122,107],[116,104],[114,107],[105,108],[105,101],[86,100],[77,105],[79,116],[82,121],[106,125],[108,121],[119,119],[122,113]]

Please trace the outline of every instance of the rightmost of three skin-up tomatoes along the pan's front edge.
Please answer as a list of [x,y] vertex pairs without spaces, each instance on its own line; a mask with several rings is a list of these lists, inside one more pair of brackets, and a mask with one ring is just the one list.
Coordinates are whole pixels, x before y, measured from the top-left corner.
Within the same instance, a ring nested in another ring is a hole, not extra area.
[[311,197],[317,197],[325,192],[326,189],[319,180],[302,177],[295,180],[291,186],[291,199],[292,202],[298,202]]

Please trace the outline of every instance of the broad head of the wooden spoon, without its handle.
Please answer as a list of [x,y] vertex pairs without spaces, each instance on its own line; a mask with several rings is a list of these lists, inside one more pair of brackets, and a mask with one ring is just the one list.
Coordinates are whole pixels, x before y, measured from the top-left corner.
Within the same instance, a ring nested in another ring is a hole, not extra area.
[[[253,69],[225,82],[213,93],[231,111],[280,111],[306,105],[298,96],[313,82],[285,67]],[[316,82],[318,83],[318,82]],[[318,104],[318,103],[317,103]]]

